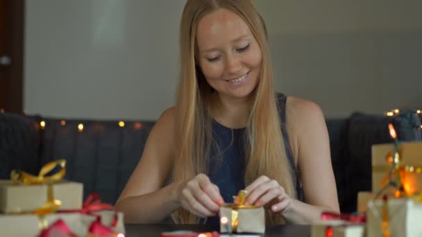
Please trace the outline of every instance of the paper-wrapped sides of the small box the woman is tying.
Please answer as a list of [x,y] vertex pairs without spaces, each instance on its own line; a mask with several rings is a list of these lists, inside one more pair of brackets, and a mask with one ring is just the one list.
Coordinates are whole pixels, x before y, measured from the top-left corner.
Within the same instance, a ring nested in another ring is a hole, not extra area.
[[[232,211],[231,207],[220,208],[220,218],[226,217],[228,222],[220,222],[221,233],[232,233]],[[265,211],[263,207],[251,209],[237,209],[237,233],[265,233]]]

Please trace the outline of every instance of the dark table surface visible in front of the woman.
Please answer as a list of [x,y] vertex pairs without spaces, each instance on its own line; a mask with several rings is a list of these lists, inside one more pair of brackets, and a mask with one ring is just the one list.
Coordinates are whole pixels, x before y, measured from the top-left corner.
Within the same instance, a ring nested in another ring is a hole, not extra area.
[[[146,236],[160,237],[162,232],[188,230],[195,232],[219,231],[219,226],[213,225],[169,225],[169,224],[126,224],[126,237]],[[256,234],[255,234],[256,236]],[[309,225],[277,225],[266,227],[265,237],[270,236],[310,236]]]

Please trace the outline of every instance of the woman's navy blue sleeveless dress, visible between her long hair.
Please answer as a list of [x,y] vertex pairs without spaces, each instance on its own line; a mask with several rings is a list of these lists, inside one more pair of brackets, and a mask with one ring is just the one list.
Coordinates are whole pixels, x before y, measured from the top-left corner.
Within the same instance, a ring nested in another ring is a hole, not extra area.
[[[277,94],[277,100],[287,159],[289,159],[293,180],[296,183],[298,199],[303,200],[303,191],[298,179],[298,172],[294,164],[289,136],[286,131],[285,105],[287,97],[284,94]],[[224,202],[233,202],[233,196],[237,195],[239,190],[245,188],[244,172],[246,164],[243,146],[245,132],[245,128],[226,128],[217,123],[217,121],[212,121],[212,139],[217,143],[219,149],[211,149],[210,159],[208,161],[208,177],[210,177],[213,184],[219,187]],[[213,162],[213,157],[216,155],[221,156],[221,164],[215,164]],[[217,223],[219,223],[218,216],[205,220],[205,224]]]

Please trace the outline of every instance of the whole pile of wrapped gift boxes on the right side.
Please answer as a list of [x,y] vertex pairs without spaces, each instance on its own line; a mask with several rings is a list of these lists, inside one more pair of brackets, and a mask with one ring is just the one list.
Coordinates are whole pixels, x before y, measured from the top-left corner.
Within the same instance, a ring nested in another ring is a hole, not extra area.
[[357,195],[355,215],[323,213],[311,236],[422,236],[422,142],[372,146],[372,191]]

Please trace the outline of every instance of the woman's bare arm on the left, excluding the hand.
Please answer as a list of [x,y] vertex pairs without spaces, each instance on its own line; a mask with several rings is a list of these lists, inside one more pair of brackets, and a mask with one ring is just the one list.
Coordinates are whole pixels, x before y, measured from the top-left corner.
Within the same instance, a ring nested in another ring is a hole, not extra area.
[[174,109],[167,109],[154,125],[144,152],[121,193],[116,209],[124,212],[125,222],[160,222],[180,204],[178,184],[164,186],[171,171],[174,149]]

